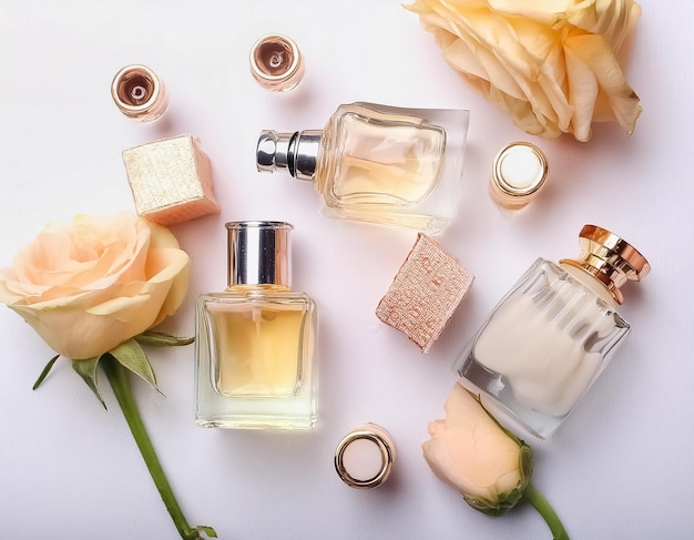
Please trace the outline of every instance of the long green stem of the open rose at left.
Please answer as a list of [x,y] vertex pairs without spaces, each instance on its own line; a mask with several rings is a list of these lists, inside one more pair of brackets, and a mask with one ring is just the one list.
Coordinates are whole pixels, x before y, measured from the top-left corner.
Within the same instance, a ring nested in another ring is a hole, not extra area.
[[171,485],[166,479],[164,469],[162,469],[152,441],[150,440],[150,436],[147,435],[144,424],[142,422],[140,412],[137,411],[137,406],[130,388],[127,370],[119,361],[108,355],[104,355],[101,360],[101,365],[106,374],[106,377],[109,378],[111,388],[113,388],[115,399],[123,410],[127,426],[135,438],[140,454],[142,454],[142,458],[150,470],[152,480],[154,480],[154,485],[156,486],[156,489],[159,490],[162,500],[166,506],[166,510],[169,510],[169,513],[173,519],[178,533],[181,534],[181,538],[184,540],[202,540],[203,537],[201,537],[201,531],[204,531],[208,537],[216,538],[217,534],[212,527],[201,526],[192,528],[186,521],[185,516],[183,516],[183,511],[176,501],[176,497],[171,489]]

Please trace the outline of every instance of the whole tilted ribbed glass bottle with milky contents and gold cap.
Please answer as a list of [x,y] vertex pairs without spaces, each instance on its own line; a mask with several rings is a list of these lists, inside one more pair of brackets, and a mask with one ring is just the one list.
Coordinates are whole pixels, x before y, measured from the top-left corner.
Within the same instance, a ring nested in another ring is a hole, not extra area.
[[510,414],[539,437],[560,426],[623,343],[631,326],[618,310],[620,287],[651,269],[634,247],[594,225],[583,227],[580,246],[575,259],[538,258],[453,366],[494,414]]

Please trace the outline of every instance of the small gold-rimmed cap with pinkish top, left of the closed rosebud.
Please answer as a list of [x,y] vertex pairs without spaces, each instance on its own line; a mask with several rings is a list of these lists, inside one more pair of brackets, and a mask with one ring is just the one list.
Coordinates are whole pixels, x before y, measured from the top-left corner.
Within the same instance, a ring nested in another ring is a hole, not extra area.
[[348,431],[337,445],[335,470],[351,488],[376,488],[390,476],[395,459],[390,434],[375,424],[365,424]]

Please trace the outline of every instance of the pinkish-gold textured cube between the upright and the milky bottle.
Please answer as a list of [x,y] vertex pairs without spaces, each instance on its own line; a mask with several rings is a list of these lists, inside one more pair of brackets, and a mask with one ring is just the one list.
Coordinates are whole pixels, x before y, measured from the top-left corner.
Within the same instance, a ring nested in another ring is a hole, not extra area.
[[441,246],[419,233],[376,316],[428,353],[472,286],[474,276]]

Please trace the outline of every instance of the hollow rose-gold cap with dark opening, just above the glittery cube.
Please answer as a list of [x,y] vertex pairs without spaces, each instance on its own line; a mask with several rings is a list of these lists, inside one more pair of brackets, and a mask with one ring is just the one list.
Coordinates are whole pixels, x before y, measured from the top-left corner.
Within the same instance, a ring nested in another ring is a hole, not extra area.
[[125,116],[137,122],[153,122],[169,106],[164,83],[154,71],[140,64],[126,65],[115,74],[111,96]]

